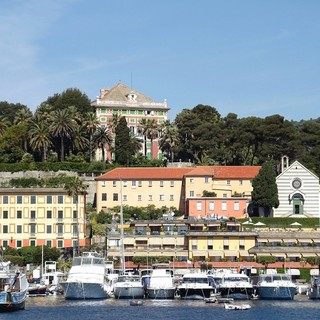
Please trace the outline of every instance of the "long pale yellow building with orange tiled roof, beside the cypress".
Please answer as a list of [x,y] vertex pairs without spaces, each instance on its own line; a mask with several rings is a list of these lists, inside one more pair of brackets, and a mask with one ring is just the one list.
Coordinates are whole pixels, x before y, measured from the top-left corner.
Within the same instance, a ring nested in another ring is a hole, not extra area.
[[[203,191],[215,198],[235,194],[251,198],[252,179],[258,166],[204,166],[188,168],[116,168],[96,178],[97,212],[130,205],[176,208],[188,216],[186,203],[202,197]],[[227,212],[226,212],[227,215]]]

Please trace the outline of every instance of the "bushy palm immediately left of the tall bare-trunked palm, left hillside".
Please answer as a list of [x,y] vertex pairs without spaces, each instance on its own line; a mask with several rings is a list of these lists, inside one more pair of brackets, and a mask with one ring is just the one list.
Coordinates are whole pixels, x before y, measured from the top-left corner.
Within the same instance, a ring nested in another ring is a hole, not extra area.
[[42,161],[44,162],[47,160],[49,147],[53,145],[49,126],[39,116],[35,116],[29,123],[30,146],[34,151],[42,153]]

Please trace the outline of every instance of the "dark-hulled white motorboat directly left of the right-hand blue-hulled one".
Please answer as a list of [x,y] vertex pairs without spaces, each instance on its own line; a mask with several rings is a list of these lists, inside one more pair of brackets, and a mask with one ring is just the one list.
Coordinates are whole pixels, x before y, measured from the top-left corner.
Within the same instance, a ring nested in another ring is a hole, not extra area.
[[216,270],[209,277],[214,283],[216,292],[219,292],[223,298],[247,300],[254,294],[253,284],[245,273],[234,269],[221,269]]

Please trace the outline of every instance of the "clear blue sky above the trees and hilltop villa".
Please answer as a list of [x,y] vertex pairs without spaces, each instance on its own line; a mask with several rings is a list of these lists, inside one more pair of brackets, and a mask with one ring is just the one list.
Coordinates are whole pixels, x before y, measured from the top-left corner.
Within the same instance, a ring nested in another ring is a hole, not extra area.
[[0,101],[122,82],[169,118],[320,117],[318,0],[0,0]]

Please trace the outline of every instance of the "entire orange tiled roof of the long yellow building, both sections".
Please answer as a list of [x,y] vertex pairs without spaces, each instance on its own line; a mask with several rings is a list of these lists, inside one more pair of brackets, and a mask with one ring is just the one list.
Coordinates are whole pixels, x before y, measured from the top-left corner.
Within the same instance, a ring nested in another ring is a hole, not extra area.
[[194,176],[213,176],[215,179],[253,179],[260,166],[202,166],[195,168],[116,168],[96,180],[182,179]]

